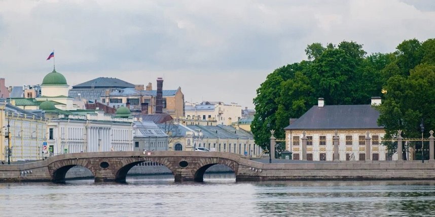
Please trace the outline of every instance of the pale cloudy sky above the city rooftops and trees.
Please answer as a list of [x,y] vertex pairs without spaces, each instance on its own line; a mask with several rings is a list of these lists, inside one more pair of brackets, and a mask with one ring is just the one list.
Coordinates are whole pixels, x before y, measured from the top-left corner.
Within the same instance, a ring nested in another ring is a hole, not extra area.
[[383,1],[0,0],[0,77],[39,84],[53,70],[69,85],[116,77],[189,102],[253,109],[274,69],[306,60],[307,45],[343,40],[368,53],[435,37],[435,3]]

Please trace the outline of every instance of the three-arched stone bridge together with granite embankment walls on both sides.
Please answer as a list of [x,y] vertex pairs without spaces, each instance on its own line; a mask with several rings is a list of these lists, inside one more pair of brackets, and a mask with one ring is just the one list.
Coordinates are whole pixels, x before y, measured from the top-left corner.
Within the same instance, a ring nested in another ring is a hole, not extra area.
[[[202,182],[205,170],[215,164],[230,167],[236,181],[263,180],[435,180],[435,160],[428,161],[288,161],[261,163],[224,152],[152,151],[88,152],[47,160],[0,165],[0,182],[65,182],[73,166],[88,168],[95,182],[125,182],[136,164],[153,161],[168,167],[175,182]],[[293,162],[293,163],[292,163]]]

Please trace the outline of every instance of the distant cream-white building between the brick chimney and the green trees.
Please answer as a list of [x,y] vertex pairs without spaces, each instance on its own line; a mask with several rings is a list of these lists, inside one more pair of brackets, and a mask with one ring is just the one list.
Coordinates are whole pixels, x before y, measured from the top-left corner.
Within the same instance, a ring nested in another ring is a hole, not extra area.
[[241,118],[242,107],[235,103],[227,105],[223,102],[202,102],[200,104],[186,102],[185,113],[188,125],[196,124],[195,120],[215,120],[217,124],[231,125],[232,122],[237,122]]

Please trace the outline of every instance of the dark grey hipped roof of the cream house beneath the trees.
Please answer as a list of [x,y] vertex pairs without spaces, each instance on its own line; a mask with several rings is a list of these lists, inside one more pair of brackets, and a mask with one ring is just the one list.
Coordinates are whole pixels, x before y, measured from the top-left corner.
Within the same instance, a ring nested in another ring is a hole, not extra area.
[[313,106],[284,129],[382,129],[371,105]]

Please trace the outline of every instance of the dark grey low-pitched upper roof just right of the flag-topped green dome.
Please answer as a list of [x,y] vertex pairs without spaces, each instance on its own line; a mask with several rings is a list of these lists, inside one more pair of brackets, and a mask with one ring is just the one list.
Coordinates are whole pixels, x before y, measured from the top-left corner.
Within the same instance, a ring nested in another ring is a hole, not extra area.
[[73,86],[73,89],[134,88],[134,84],[112,77],[98,77]]

